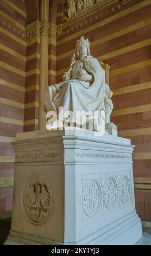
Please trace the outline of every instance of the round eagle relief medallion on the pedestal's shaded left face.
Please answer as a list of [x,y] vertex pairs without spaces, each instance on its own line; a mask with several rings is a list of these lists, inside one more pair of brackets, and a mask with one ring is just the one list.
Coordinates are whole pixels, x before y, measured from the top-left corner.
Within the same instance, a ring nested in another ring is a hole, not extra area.
[[33,224],[45,223],[52,214],[53,197],[48,181],[34,175],[24,184],[21,193],[23,214]]

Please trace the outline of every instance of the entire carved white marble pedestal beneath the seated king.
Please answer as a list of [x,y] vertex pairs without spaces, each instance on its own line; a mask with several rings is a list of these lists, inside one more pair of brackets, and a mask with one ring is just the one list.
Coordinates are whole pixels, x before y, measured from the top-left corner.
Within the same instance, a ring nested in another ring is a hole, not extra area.
[[134,245],[129,139],[93,131],[18,133],[11,231],[5,245]]

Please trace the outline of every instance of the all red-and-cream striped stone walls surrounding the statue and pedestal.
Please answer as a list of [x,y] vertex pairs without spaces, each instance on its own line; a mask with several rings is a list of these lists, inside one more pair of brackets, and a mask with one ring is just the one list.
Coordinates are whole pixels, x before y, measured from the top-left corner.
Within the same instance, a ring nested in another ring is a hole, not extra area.
[[[53,22],[58,25],[58,36],[55,38],[56,25],[51,23],[48,83],[62,80],[71,62],[75,42],[81,35],[89,38],[92,55],[111,66],[110,87],[114,92],[111,119],[118,127],[119,136],[130,138],[136,145],[133,156],[136,208],[143,220],[149,220],[150,0],[131,0],[124,4],[121,0],[107,1],[110,4],[62,25],[65,1],[56,2],[59,2],[58,11],[56,22],[55,19]],[[16,132],[38,129],[40,36],[34,34],[26,41],[24,27],[30,15],[26,15],[24,1],[1,0],[0,16],[0,145],[3,148],[0,151],[0,211],[4,211],[11,208],[12,197],[14,155],[10,142]],[[29,21],[26,30],[28,26],[39,26],[38,20],[33,22],[29,17]],[[9,178],[6,180],[5,176]],[[4,182],[10,187],[2,187]]]

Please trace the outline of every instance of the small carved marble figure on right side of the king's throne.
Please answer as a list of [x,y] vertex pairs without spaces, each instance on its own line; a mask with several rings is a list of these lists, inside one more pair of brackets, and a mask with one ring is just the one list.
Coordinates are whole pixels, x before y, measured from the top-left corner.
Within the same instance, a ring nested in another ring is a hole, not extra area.
[[117,129],[114,123],[110,123],[110,115],[113,109],[113,103],[111,100],[113,93],[107,83],[105,83],[105,97],[104,97],[104,105],[105,105],[105,129]]

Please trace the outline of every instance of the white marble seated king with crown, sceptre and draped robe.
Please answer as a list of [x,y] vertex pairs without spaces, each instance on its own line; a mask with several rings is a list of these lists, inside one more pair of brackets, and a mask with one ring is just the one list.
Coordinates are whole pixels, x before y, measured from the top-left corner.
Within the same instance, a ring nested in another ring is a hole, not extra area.
[[[75,55],[78,60],[75,60]],[[61,83],[52,84],[46,91],[47,118],[51,117],[49,113],[52,111],[58,117],[59,107],[63,107],[64,113],[70,111],[74,115],[76,111],[105,111],[105,71],[98,60],[91,56],[90,42],[84,36],[77,40],[70,69],[62,78]],[[52,119],[49,119],[46,128],[51,130],[52,127]]]

